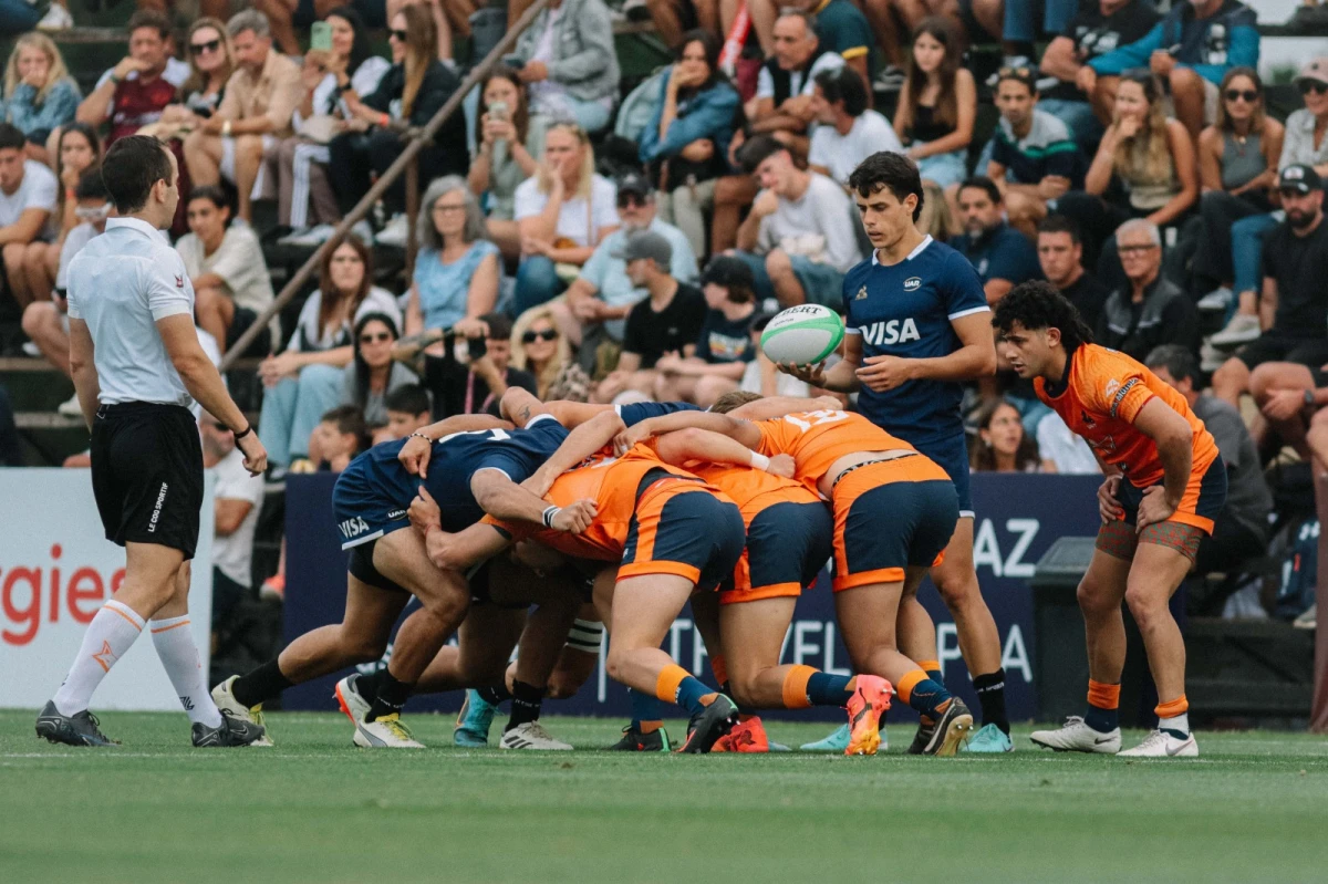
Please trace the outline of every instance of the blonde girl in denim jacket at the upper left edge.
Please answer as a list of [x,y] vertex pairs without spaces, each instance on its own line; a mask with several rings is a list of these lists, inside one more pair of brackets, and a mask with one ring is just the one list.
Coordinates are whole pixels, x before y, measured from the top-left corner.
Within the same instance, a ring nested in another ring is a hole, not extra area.
[[78,84],[50,37],[33,31],[15,41],[4,69],[0,121],[28,138],[28,157],[49,165],[46,139],[73,122],[80,101]]

